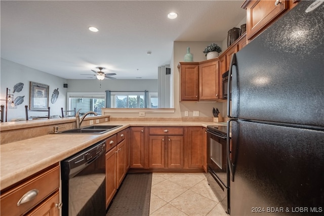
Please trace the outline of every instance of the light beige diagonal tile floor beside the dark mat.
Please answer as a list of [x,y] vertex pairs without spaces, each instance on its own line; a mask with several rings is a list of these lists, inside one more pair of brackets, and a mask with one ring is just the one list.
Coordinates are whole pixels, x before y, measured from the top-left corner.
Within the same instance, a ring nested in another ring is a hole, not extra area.
[[153,172],[150,215],[226,214],[203,173]]

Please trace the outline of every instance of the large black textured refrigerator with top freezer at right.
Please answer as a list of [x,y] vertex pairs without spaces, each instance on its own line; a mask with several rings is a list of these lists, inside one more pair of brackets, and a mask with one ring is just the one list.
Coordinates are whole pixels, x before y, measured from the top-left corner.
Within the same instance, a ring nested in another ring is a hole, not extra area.
[[324,215],[321,3],[299,2],[232,56],[230,215]]

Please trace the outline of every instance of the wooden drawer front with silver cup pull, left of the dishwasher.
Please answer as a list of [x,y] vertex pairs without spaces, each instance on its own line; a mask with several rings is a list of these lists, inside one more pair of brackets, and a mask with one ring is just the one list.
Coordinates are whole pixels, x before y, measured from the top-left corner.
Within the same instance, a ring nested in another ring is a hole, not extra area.
[[[56,166],[3,193],[1,195],[1,215],[22,215],[26,213],[57,190],[59,182],[60,168]],[[34,194],[34,198],[18,205],[20,199],[28,193]]]

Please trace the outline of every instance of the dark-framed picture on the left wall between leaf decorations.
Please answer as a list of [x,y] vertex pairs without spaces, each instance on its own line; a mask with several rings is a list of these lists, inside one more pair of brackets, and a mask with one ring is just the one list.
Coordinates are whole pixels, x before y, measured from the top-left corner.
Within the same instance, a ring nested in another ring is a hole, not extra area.
[[30,82],[29,109],[47,110],[49,107],[49,85]]

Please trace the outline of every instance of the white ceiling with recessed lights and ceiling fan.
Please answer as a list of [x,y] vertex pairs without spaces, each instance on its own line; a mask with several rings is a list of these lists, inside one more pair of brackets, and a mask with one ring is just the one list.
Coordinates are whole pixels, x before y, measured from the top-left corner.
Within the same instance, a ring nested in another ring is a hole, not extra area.
[[80,74],[97,67],[117,79],[156,79],[173,41],[224,40],[246,16],[243,2],[1,1],[1,58],[65,79],[94,79]]

